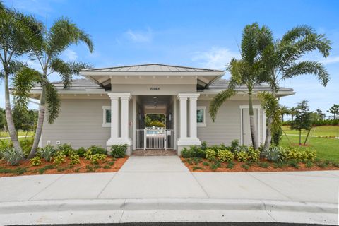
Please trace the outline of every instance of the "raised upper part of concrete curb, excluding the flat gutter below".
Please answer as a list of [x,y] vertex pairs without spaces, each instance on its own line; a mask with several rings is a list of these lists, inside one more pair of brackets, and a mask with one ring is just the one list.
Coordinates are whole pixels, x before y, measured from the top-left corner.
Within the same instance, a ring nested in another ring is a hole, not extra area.
[[69,210],[268,210],[338,213],[338,205],[332,203],[212,198],[81,199],[0,203],[1,214]]

